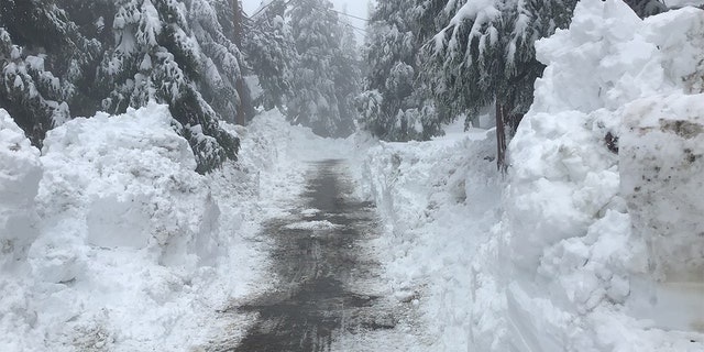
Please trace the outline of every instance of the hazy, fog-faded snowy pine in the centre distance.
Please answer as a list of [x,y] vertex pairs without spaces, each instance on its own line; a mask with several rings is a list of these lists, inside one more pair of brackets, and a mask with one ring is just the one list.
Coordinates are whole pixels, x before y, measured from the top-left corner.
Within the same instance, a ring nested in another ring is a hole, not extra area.
[[299,0],[289,11],[298,59],[287,114],[319,135],[341,135],[332,61],[340,50],[338,14],[328,0]]

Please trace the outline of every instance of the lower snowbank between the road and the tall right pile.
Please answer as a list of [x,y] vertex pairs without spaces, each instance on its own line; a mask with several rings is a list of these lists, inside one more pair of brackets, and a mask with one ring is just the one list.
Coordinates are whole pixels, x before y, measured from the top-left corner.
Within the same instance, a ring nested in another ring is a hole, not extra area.
[[376,246],[392,294],[421,307],[436,337],[432,350],[469,344],[469,295],[483,274],[468,275],[468,268],[498,217],[501,200],[492,133],[381,143],[363,163],[363,182],[388,224]]

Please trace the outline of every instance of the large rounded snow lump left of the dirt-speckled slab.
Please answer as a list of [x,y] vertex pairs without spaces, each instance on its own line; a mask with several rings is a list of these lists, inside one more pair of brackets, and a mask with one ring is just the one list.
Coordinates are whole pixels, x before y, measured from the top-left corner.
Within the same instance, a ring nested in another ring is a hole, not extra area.
[[527,114],[510,143],[512,258],[537,268],[543,249],[586,234],[618,193],[616,156],[601,143],[608,114]]

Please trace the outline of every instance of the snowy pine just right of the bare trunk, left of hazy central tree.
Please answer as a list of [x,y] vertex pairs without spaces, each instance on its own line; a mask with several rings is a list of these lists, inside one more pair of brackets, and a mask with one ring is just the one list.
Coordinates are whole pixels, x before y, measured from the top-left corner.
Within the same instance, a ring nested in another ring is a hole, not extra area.
[[293,96],[293,67],[297,54],[289,24],[284,20],[286,2],[274,0],[245,23],[243,51],[246,63],[256,74],[262,95],[256,103],[264,109],[286,112],[286,101]]

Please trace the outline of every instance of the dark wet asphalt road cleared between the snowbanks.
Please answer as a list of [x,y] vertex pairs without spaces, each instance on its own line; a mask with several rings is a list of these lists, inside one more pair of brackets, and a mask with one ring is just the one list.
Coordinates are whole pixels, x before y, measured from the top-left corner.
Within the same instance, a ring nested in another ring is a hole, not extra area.
[[[371,204],[350,196],[340,166],[339,161],[316,164],[304,195],[307,204],[266,223],[264,231],[275,239],[273,270],[279,286],[238,308],[257,312],[258,320],[239,345],[218,351],[330,351],[342,333],[394,329],[393,314],[375,307],[380,297],[353,284],[380,271],[360,249],[378,223]],[[319,226],[306,229],[311,221]]]

